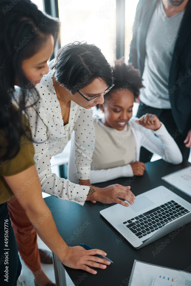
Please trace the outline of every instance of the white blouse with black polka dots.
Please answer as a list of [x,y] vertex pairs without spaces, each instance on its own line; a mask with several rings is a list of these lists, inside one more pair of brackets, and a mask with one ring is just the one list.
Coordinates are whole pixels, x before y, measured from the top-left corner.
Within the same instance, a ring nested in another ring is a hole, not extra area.
[[[49,66],[52,66],[52,62]],[[92,110],[82,108],[71,100],[69,121],[64,125],[52,80],[54,72],[54,69],[50,69],[36,85],[40,99],[33,107],[27,108],[32,135],[36,142],[35,166],[43,192],[83,205],[90,187],[74,184],[52,173],[50,157],[64,150],[74,131],[77,176],[82,180],[90,178],[95,141]]]

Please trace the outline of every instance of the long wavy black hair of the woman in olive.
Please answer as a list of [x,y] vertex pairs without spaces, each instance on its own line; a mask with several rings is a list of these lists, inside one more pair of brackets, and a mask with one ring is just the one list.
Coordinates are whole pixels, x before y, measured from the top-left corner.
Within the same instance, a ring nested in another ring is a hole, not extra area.
[[[41,25],[42,24],[42,25]],[[11,159],[19,152],[19,140],[27,131],[21,122],[27,102],[27,91],[34,86],[26,78],[21,68],[22,61],[32,57],[52,35],[56,43],[60,23],[38,10],[29,0],[0,1],[0,159]],[[14,98],[15,78],[21,87],[18,109],[11,100]],[[33,92],[34,96],[38,95]]]

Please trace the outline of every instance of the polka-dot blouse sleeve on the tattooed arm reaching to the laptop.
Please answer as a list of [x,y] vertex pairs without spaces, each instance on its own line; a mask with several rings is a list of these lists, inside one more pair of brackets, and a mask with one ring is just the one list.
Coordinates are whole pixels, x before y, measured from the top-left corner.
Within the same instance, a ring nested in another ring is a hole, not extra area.
[[34,160],[42,191],[52,196],[56,196],[57,198],[71,200],[83,205],[86,201],[90,187],[74,184],[64,178],[58,178],[56,174],[52,173],[46,135],[48,128],[40,116],[36,114],[37,112],[33,107],[29,108],[27,112],[30,118],[31,131],[35,140]]

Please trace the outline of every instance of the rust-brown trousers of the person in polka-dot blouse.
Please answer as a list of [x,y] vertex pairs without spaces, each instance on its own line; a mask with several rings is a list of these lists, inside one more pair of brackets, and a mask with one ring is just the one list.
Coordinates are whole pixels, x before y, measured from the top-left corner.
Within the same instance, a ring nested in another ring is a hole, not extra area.
[[36,231],[16,197],[7,203],[19,253],[27,267],[36,272],[41,269]]

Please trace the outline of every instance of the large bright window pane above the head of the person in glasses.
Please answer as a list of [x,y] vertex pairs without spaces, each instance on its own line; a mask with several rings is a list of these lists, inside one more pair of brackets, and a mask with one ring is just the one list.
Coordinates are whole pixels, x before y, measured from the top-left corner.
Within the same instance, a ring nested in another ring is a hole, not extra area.
[[58,0],[61,46],[87,41],[101,48],[110,64],[116,59],[116,0]]

